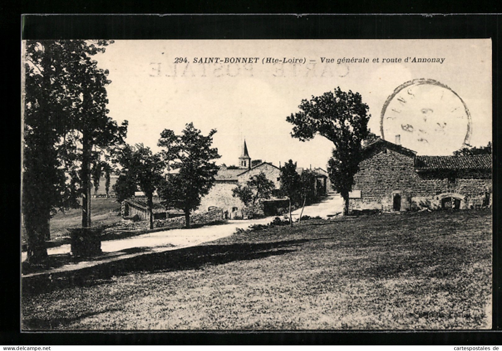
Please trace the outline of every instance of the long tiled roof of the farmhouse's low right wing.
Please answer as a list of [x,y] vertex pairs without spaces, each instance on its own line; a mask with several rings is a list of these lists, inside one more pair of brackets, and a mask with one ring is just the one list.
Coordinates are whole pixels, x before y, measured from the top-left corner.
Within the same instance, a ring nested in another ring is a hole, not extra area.
[[491,155],[416,156],[415,168],[427,169],[491,169]]

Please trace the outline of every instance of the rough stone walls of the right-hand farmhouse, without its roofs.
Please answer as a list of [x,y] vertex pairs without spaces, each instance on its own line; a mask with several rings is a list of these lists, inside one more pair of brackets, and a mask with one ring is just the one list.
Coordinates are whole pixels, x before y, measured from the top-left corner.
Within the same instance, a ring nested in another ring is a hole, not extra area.
[[[360,190],[360,199],[350,199],[351,210],[393,210],[394,197],[401,197],[401,211],[410,210],[427,199],[442,193],[466,196],[465,206],[479,202],[486,189],[491,188],[491,173],[457,172],[455,179],[447,173],[417,172],[414,157],[393,150],[376,152],[359,164],[352,190]],[[437,199],[436,199],[437,201]]]

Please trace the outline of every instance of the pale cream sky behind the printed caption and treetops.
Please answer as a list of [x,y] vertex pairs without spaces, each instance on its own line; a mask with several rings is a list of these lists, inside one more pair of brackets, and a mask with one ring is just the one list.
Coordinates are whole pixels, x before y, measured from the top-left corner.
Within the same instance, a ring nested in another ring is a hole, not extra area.
[[[194,63],[211,57],[219,62]],[[459,107],[458,96],[470,113],[469,144],[482,146],[491,140],[489,39],[133,40],[115,41],[94,58],[109,70],[109,116],[129,121],[128,143],[144,143],[154,151],[160,150],[157,141],[162,130],[178,134],[193,122],[203,134],[217,130],[213,145],[221,155],[218,164],[237,164],[245,139],[252,159],[276,165],[293,159],[300,167],[325,169],[333,144],[320,135],[302,142],[290,134],[293,125],[286,117],[299,111],[302,99],[338,86],[358,92],[369,106],[371,132],[381,135],[386,100],[405,82],[420,78],[451,90],[444,94],[434,87],[433,91],[419,87],[413,91],[416,94],[407,92],[407,97],[419,98],[414,103],[408,99],[403,112],[398,107],[404,104],[396,96],[384,115],[386,139],[394,142],[391,134],[400,132],[402,144],[418,154],[451,154],[462,146],[467,128],[467,118],[454,116],[465,109],[451,112]],[[225,58],[252,58],[253,63],[225,63]],[[291,63],[267,63],[267,58]],[[338,63],[343,58],[357,60]],[[441,60],[412,63],[413,58]],[[392,109],[400,112],[399,118],[388,115]],[[414,125],[418,133],[419,122],[432,111],[436,112],[433,124],[448,122],[450,129],[443,128],[443,134],[431,136],[427,143],[417,142],[409,126]],[[405,126],[407,130],[401,130]]]

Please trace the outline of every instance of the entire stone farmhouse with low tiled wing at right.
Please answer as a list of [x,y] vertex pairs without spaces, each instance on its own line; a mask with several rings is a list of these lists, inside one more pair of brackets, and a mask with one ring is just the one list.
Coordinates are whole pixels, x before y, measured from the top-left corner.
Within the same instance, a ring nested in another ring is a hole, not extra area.
[[350,210],[407,211],[491,204],[491,155],[418,156],[374,138],[363,146]]

